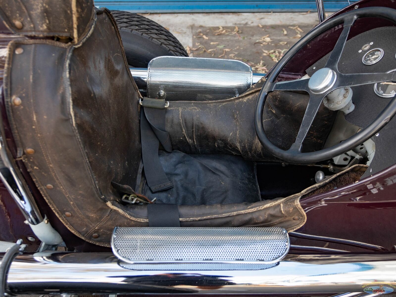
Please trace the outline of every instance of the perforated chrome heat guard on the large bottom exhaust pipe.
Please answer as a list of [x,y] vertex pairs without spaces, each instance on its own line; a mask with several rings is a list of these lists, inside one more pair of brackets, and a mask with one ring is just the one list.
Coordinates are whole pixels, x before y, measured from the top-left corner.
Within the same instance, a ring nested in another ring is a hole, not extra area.
[[256,270],[277,265],[290,242],[273,227],[116,227],[111,247],[133,270]]

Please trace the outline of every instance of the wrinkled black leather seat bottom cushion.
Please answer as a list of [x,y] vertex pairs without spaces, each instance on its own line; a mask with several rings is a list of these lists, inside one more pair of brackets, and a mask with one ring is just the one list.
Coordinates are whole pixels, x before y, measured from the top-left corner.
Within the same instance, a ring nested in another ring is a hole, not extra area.
[[143,194],[148,198],[178,205],[260,201],[255,162],[236,155],[189,155],[178,150],[161,150],[159,156],[174,186],[153,194],[144,182]]

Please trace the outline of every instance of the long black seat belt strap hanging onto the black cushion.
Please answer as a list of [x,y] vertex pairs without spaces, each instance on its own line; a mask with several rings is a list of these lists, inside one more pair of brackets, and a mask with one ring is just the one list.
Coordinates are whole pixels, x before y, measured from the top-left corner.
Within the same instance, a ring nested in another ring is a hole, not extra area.
[[165,99],[144,98],[140,113],[140,138],[143,168],[147,185],[155,193],[173,187],[162,168],[158,146],[172,150],[169,133],[165,131]]

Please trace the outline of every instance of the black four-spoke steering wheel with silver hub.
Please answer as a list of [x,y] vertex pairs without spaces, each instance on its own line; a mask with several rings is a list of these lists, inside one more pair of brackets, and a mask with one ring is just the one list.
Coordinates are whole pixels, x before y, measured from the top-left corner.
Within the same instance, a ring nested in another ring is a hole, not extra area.
[[[338,88],[347,88],[352,86],[360,86],[365,84],[374,84],[379,82],[392,81],[396,82],[396,71],[391,73],[356,73],[356,74],[343,74],[338,70],[338,62],[343,52],[346,39],[351,26],[356,19],[362,17],[378,17],[396,23],[396,10],[385,7],[371,7],[360,8],[353,11],[348,11],[341,15],[337,15],[328,21],[324,21],[308,32],[301,38],[289,51],[286,52],[284,57],[270,70],[267,80],[259,94],[254,114],[255,129],[257,137],[265,149],[271,154],[280,158],[281,160],[292,163],[313,163],[327,160],[338,156],[352,148],[363,143],[377,131],[383,128],[396,113],[396,97],[394,96],[385,109],[371,122],[366,128],[362,129],[352,137],[334,145],[333,147],[325,148],[315,152],[301,152],[302,143],[307,136],[312,122],[318,112],[324,97]],[[286,82],[275,82],[278,74],[284,66],[291,60],[291,58],[300,51],[308,42],[316,36],[322,34],[328,29],[337,25],[344,25],[343,31],[339,36],[337,43],[331,52],[329,59],[324,68],[316,71],[310,78],[291,80]],[[283,150],[276,147],[270,142],[267,135],[265,135],[263,127],[263,108],[268,93],[275,90],[287,91],[306,91],[309,93],[310,98],[305,110],[303,121],[301,122],[297,138],[293,145],[288,150]],[[353,111],[352,111],[353,112]]]

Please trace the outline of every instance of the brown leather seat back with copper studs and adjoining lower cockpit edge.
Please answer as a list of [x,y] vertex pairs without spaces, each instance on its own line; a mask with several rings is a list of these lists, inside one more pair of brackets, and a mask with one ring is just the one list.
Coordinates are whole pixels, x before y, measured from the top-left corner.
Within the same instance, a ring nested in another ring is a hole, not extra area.
[[[111,185],[116,181],[139,190],[139,93],[110,12],[102,9],[92,17],[84,15],[82,23],[88,25],[78,42],[51,38],[10,42],[5,105],[18,158],[25,162],[57,217],[84,240],[109,246],[115,226],[148,225],[147,206],[122,205],[120,193]],[[65,30],[68,26],[65,23]],[[23,51],[15,53],[17,48]],[[21,105],[13,105],[14,96],[21,98]],[[254,101],[251,96],[238,100]],[[188,112],[188,106],[182,105],[175,103],[177,109],[170,109],[170,114]],[[184,118],[190,116],[193,114],[186,113]],[[179,214],[181,227],[279,226],[295,230],[305,222],[298,196],[179,206]]]

